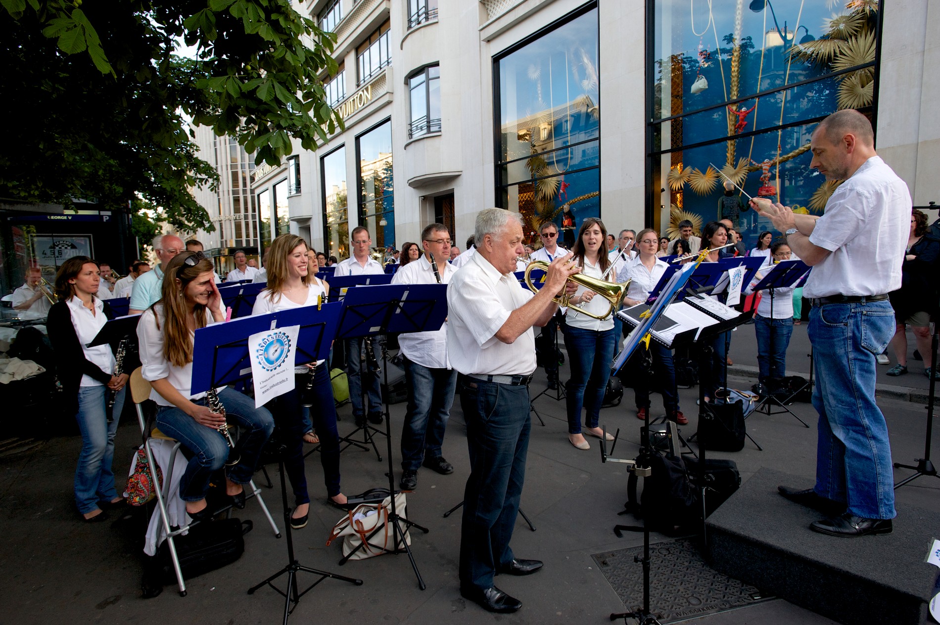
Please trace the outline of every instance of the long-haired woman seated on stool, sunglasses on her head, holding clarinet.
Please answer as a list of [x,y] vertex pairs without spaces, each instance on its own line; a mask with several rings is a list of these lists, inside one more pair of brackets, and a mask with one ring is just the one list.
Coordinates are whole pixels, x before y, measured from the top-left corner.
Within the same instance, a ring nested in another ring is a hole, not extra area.
[[[226,418],[207,406],[206,393],[190,392],[193,377],[193,334],[225,319],[222,296],[215,287],[211,260],[202,252],[182,252],[166,266],[163,296],[141,315],[137,324],[142,375],[153,387],[157,428],[180,441],[192,454],[180,478],[180,499],[194,521],[210,516],[206,492],[212,474],[228,459],[226,437],[219,429]],[[261,447],[274,430],[274,419],[255,400],[223,386],[218,397],[226,413],[242,426],[232,450],[238,463],[226,467],[226,494],[244,508],[243,485],[251,481]]]

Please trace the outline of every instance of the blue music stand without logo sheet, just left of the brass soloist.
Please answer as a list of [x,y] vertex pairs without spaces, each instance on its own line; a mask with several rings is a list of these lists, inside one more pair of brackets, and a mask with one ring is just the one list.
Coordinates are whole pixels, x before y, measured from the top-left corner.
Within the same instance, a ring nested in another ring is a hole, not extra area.
[[[350,289],[343,301],[343,315],[339,320],[337,338],[358,338],[362,336],[376,336],[387,333],[412,333],[438,330],[444,323],[447,315],[447,286],[444,284],[417,284],[417,285],[379,285],[372,287],[359,287]],[[385,368],[385,384],[388,384],[387,347],[383,343],[382,359]],[[386,554],[407,554],[415,570],[418,587],[424,590],[424,580],[417,570],[415,556],[405,536],[412,527],[416,527],[425,534],[427,527],[422,527],[410,519],[398,514],[395,508],[395,471],[392,466],[392,437],[391,414],[388,409],[387,396],[385,400],[385,443],[388,453],[388,491],[392,495],[392,510],[386,523],[393,528],[392,547],[382,547]],[[371,428],[368,424],[367,429]],[[374,428],[373,428],[374,430]],[[371,441],[371,438],[368,439]],[[375,443],[372,441],[372,445]],[[377,534],[384,527],[377,525],[376,529],[368,535],[367,539]],[[387,531],[387,529],[386,529]],[[343,556],[339,564],[345,564],[353,554],[365,545],[365,540],[349,555]],[[375,547],[373,547],[374,549]]]

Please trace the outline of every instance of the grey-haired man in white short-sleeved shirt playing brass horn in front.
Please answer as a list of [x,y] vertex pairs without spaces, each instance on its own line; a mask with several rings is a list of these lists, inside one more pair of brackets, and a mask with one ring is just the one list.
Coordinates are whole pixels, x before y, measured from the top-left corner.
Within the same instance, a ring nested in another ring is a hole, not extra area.
[[[538,560],[518,559],[509,547],[519,511],[528,449],[528,383],[535,371],[533,325],[557,310],[552,301],[578,272],[566,254],[549,265],[533,294],[512,272],[523,254],[522,219],[503,209],[477,215],[477,253],[447,287],[447,353],[462,373],[470,477],[461,527],[461,594],[491,612],[515,612],[522,602],[493,586],[493,574],[528,575]],[[576,285],[567,290],[572,293]]]

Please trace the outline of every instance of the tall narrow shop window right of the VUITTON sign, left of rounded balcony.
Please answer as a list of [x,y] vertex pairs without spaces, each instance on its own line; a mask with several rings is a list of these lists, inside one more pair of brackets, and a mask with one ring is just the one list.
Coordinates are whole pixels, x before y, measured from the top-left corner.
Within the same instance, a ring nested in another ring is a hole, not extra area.
[[392,122],[386,120],[356,137],[359,155],[359,224],[372,244],[395,248],[395,185],[392,178]]

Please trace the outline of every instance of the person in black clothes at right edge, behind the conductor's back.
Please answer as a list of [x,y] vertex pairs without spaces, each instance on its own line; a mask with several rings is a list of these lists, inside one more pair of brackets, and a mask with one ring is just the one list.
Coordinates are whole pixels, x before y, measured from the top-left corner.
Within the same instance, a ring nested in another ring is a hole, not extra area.
[[940,242],[925,237],[927,214],[915,209],[911,213],[911,232],[907,239],[907,253],[901,265],[901,289],[892,291],[897,329],[891,339],[891,350],[898,364],[888,369],[890,376],[907,373],[907,326],[911,326],[917,351],[924,359],[924,375],[940,380],[935,373],[931,352],[931,315],[936,314],[937,280],[936,259],[940,256]]

